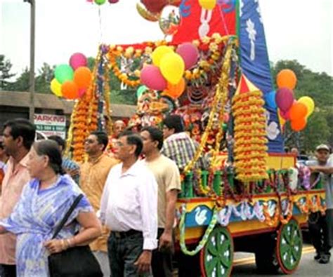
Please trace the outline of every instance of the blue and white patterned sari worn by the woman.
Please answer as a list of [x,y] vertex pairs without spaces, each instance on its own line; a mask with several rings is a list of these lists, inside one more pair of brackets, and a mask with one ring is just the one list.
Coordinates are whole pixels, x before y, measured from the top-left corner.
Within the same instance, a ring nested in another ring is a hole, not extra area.
[[[10,217],[0,220],[0,225],[17,236],[17,276],[49,276],[49,253],[44,243],[51,239],[56,225],[81,193],[81,189],[68,175],[60,176],[48,189],[40,190],[37,179],[25,185]],[[79,223],[74,220],[79,212],[92,211],[93,208],[84,196],[57,238],[74,236],[79,231]]]

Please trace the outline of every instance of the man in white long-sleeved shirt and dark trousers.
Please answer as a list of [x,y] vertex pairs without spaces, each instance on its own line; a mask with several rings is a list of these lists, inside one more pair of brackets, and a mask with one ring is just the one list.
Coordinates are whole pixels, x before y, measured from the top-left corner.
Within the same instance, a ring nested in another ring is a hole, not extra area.
[[119,135],[115,156],[122,163],[110,170],[101,198],[100,219],[112,230],[107,250],[114,277],[150,271],[157,248],[157,183],[138,161],[142,149],[138,135]]

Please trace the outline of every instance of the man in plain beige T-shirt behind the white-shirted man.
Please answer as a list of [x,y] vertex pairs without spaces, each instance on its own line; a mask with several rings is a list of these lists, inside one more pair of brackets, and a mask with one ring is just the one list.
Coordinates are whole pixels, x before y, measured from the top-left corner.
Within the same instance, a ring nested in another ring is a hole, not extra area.
[[172,276],[172,253],[174,250],[173,227],[176,201],[181,191],[181,177],[174,161],[160,153],[163,133],[155,127],[141,130],[144,162],[152,170],[158,185],[158,234],[159,247],[152,252],[152,273],[156,277]]

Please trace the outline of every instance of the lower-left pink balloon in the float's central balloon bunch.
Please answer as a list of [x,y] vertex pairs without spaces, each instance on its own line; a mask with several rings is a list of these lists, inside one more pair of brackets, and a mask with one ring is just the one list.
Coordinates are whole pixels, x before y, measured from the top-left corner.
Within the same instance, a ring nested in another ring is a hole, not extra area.
[[146,65],[141,70],[141,83],[152,90],[164,90],[167,86],[166,79],[162,76],[158,67]]

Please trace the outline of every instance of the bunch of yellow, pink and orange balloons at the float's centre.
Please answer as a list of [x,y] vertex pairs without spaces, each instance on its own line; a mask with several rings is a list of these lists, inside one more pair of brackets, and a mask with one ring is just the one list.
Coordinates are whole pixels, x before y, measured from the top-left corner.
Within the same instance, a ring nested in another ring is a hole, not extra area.
[[185,90],[183,74],[197,63],[199,51],[192,43],[178,46],[176,53],[170,46],[159,46],[152,52],[152,65],[141,70],[141,83],[173,99]]

